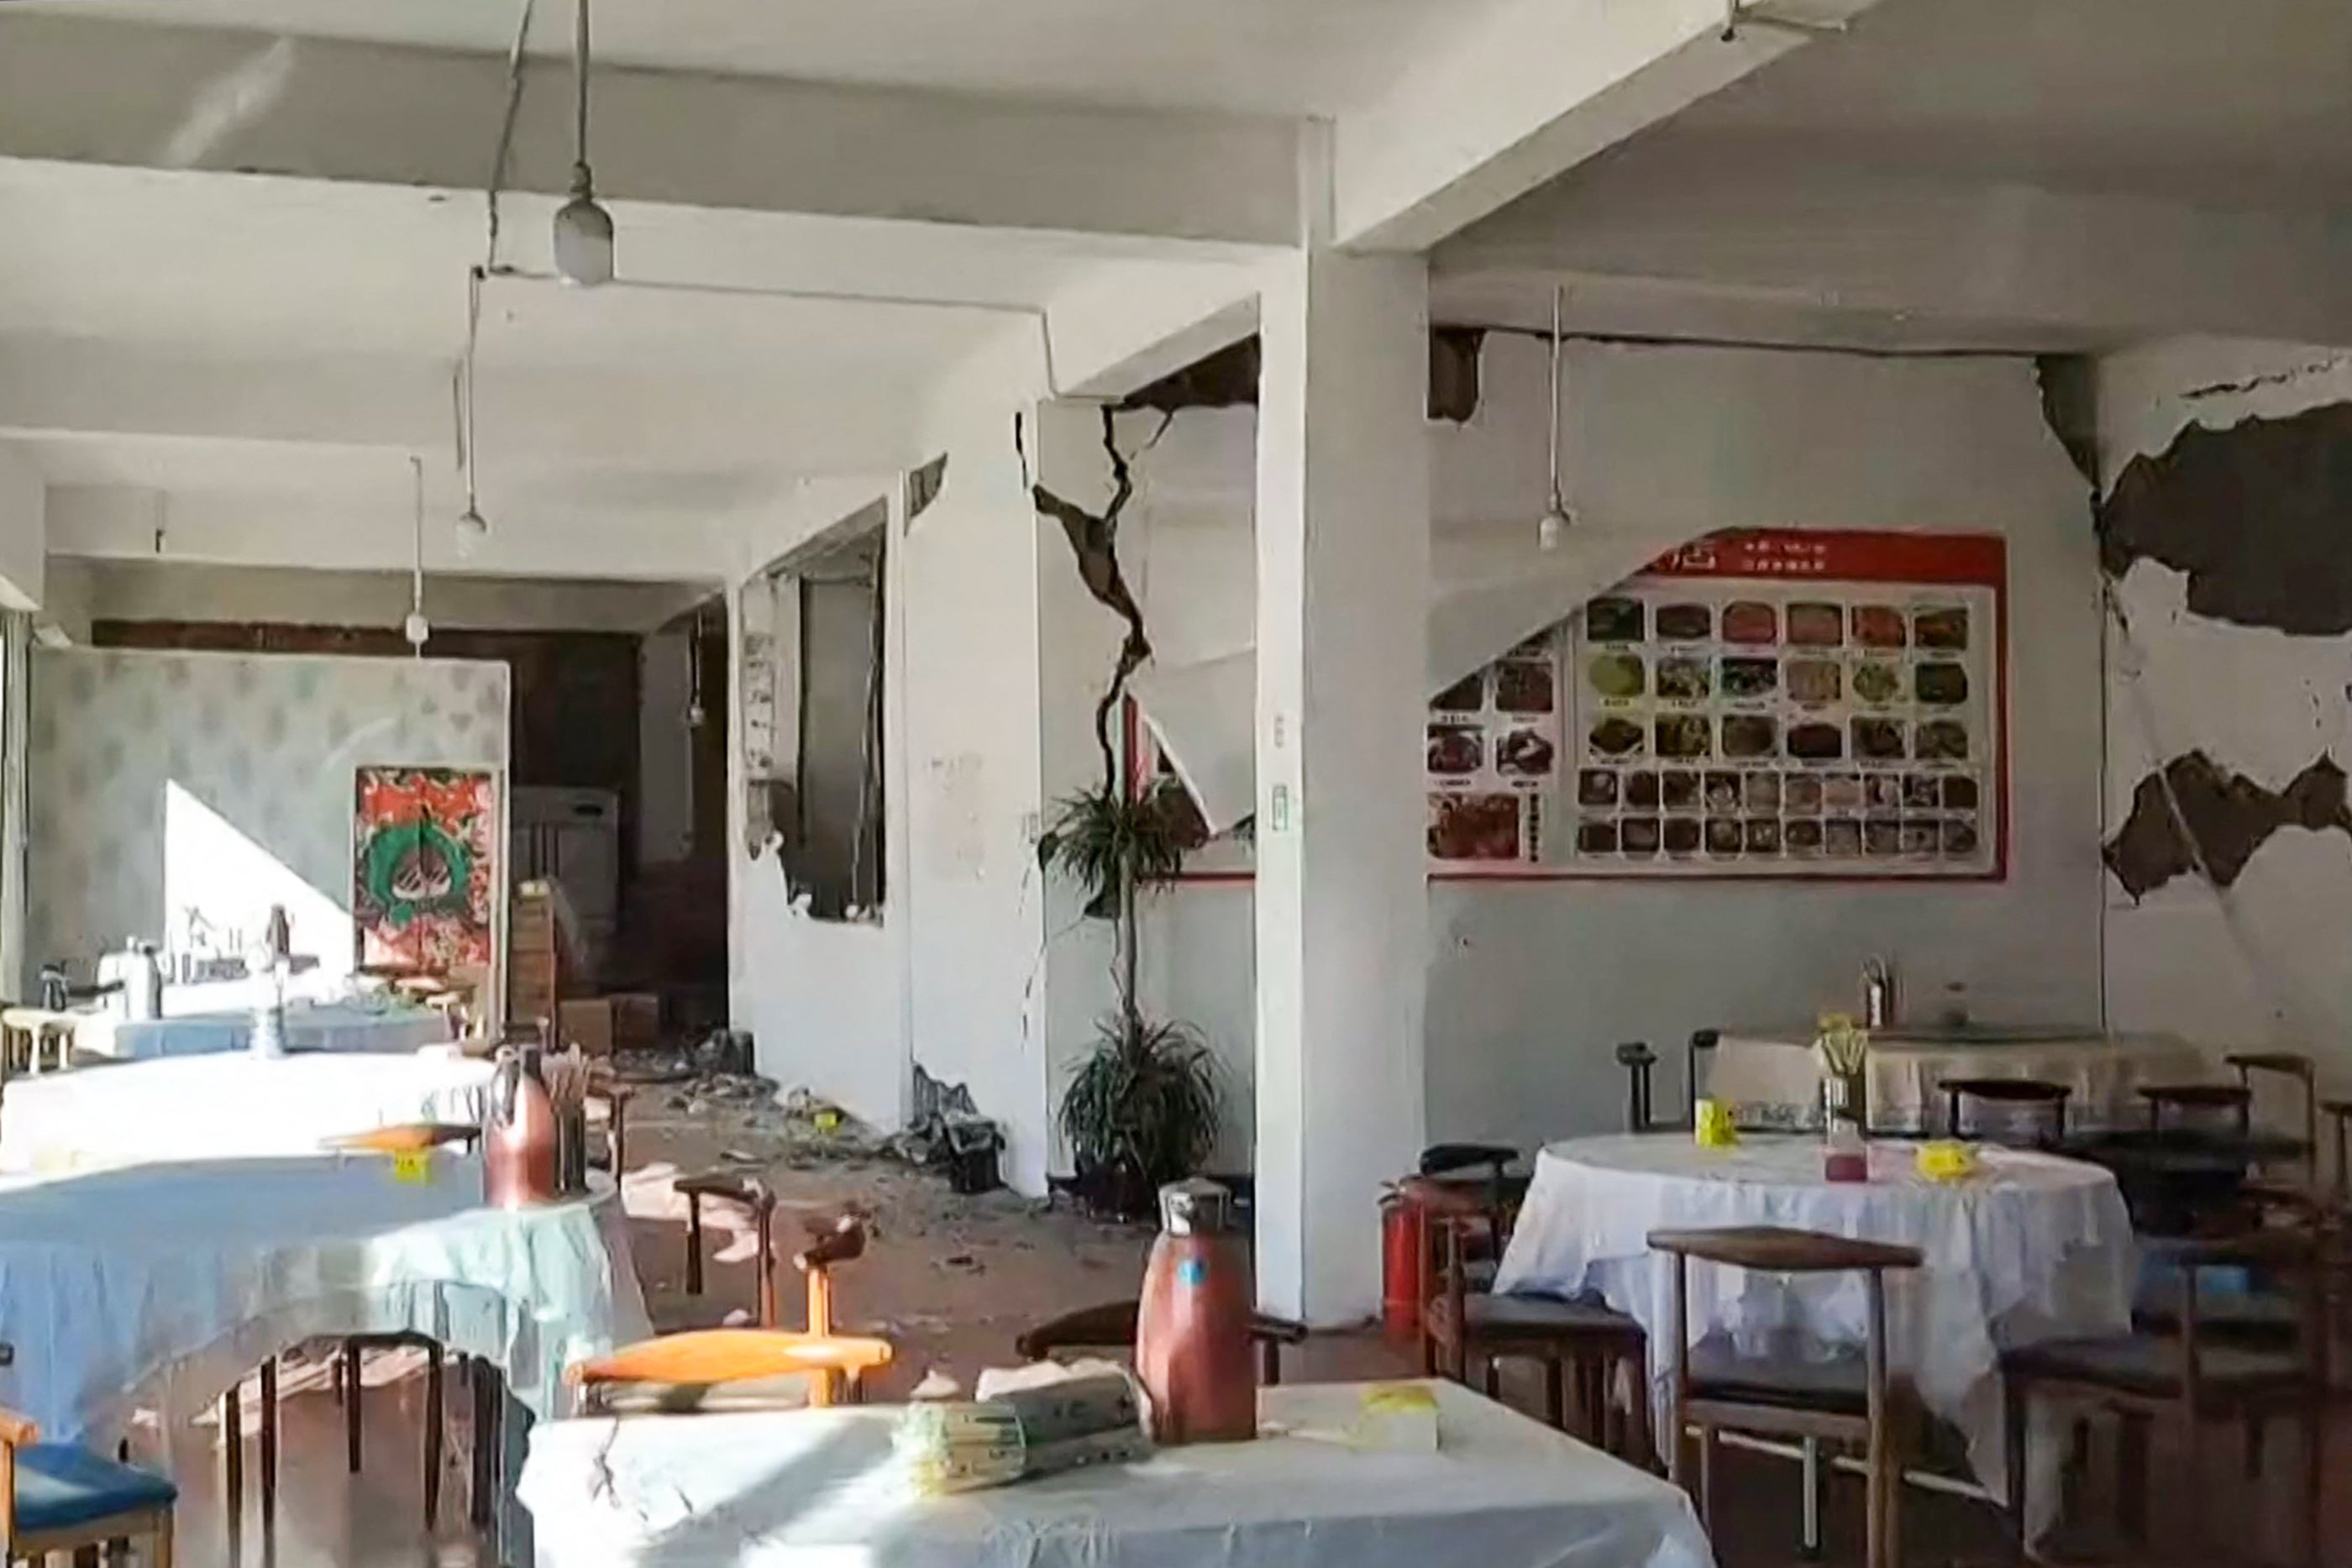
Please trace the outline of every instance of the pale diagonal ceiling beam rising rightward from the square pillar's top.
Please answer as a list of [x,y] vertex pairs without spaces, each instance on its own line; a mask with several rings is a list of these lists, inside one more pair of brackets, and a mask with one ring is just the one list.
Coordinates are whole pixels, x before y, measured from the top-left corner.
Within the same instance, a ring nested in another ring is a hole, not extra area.
[[[1877,0],[1811,0],[1844,24]],[[1759,7],[1762,9],[1762,7]],[[1331,143],[1331,240],[1421,252],[1564,169],[1825,33],[1748,21],[1724,0],[1510,0],[1456,31]],[[1825,45],[1825,47],[1835,47]]]

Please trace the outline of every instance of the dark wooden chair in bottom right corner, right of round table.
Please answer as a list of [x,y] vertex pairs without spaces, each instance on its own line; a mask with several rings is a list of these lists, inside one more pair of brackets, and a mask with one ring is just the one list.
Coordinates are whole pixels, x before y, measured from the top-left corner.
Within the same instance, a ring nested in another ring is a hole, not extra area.
[[[2293,1413],[2303,1420],[2303,1563],[2319,1559],[2319,1446],[2328,1399],[2328,1333],[2319,1291],[2319,1251],[2305,1227],[2272,1227],[2218,1241],[2178,1241],[2164,1248],[2180,1272],[2178,1324],[2171,1333],[2131,1333],[2084,1340],[2044,1340],[2002,1356],[2002,1399],[2009,1427],[2011,1549],[2025,1559],[2025,1429],[2034,1396],[2093,1406],[2124,1422],[2117,1507],[2124,1535],[2147,1540],[2147,1436],[2157,1420],[2183,1432],[2192,1467],[2199,1432],[2211,1420],[2246,1425],[2249,1469],[2260,1467],[2263,1422]],[[2303,1328],[2288,1349],[2211,1342],[2199,1300],[2204,1269],[2263,1269],[2303,1281]],[[2197,1514],[2199,1521],[2204,1514]]]

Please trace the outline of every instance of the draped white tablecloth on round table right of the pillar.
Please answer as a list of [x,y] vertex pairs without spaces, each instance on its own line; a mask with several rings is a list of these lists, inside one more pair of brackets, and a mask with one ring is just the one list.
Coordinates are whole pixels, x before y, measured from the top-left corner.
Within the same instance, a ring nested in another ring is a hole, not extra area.
[[[1788,1225],[1917,1246],[1924,1267],[1889,1274],[1891,1361],[1929,1410],[1966,1434],[1978,1479],[2002,1493],[1994,1347],[2129,1331],[2131,1215],[2098,1166],[1983,1150],[1976,1178],[1938,1185],[1917,1173],[1915,1152],[1872,1145],[1870,1180],[1832,1185],[1820,1178],[1818,1138],[1748,1138],[1733,1150],[1672,1133],[1555,1143],[1536,1159],[1496,1291],[1602,1291],[1649,1331],[1663,1396],[1675,1366],[1675,1272],[1649,1251],[1651,1229]],[[1863,1281],[1693,1262],[1691,1333],[1712,1331],[1750,1349],[1785,1331],[1853,1347],[1867,1338]],[[2049,1472],[2056,1450],[2037,1441],[2032,1458]],[[2037,1474],[2030,1495],[2056,1497],[2051,1481]]]

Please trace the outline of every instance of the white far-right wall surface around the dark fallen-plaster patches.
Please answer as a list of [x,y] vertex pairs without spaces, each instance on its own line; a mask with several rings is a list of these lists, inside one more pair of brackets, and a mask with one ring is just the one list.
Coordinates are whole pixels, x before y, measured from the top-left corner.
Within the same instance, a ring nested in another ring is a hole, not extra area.
[[[2352,353],[2176,339],[2098,371],[2100,482],[2161,454],[2187,425],[2223,430],[2352,402]],[[2352,762],[2352,637],[2288,637],[2187,609],[2187,578],[2133,562],[2114,585],[2131,625],[2107,637],[2107,830],[2161,759],[2204,750],[2265,788],[2321,752]],[[2216,893],[2176,877],[2133,903],[2107,882],[2107,1001],[2119,1027],[2164,1027],[2211,1048],[2307,1051],[2352,1086],[2352,842],[2296,827]]]

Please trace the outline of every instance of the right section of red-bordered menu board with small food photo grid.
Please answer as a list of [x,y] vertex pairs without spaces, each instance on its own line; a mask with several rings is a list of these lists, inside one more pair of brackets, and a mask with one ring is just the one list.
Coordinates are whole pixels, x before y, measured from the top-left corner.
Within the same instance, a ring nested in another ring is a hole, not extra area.
[[1743,531],[1592,599],[1559,637],[1566,792],[1529,860],[1999,877],[2002,588],[1997,536]]

